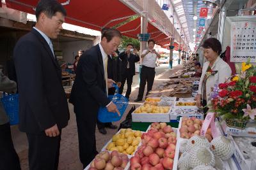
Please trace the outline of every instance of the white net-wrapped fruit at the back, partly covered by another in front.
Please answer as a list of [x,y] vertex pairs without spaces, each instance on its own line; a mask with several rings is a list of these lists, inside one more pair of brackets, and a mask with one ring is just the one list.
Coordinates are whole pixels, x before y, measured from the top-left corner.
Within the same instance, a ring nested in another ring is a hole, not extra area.
[[204,136],[195,135],[189,139],[186,146],[186,152],[190,152],[190,150],[195,146],[211,148],[211,143],[209,143],[208,139],[205,138]]

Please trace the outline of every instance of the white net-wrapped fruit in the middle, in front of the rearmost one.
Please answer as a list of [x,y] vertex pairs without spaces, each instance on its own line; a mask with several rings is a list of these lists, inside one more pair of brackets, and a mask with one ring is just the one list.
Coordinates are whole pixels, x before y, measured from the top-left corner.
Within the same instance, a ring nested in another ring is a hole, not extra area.
[[208,148],[195,146],[190,152],[189,166],[196,167],[200,165],[214,166],[214,155]]

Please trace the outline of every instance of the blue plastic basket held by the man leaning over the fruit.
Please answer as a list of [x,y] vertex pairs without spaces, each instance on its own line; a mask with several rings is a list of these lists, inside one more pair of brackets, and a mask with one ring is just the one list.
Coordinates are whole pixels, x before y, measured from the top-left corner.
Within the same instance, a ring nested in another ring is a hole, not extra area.
[[118,93],[118,87],[113,85],[116,89],[116,94],[113,96],[108,96],[108,98],[116,104],[118,111],[120,112],[120,116],[117,113],[109,112],[106,107],[100,107],[98,112],[98,120],[102,123],[106,122],[116,122],[122,118],[124,112],[128,106],[128,100],[126,97],[122,96]]

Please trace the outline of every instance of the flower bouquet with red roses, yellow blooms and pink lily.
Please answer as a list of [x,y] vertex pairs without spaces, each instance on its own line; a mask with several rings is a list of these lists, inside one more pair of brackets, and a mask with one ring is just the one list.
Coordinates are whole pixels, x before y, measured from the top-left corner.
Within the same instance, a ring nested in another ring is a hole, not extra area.
[[228,126],[243,129],[249,120],[255,120],[256,70],[250,61],[243,62],[241,73],[218,87],[214,87],[211,106]]

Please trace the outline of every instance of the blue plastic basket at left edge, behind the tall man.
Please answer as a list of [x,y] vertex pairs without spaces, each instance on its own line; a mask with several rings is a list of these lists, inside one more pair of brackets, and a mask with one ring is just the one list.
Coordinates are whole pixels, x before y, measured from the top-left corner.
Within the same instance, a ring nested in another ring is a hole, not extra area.
[[10,118],[10,125],[19,124],[19,94],[3,93],[1,101],[7,116]]

